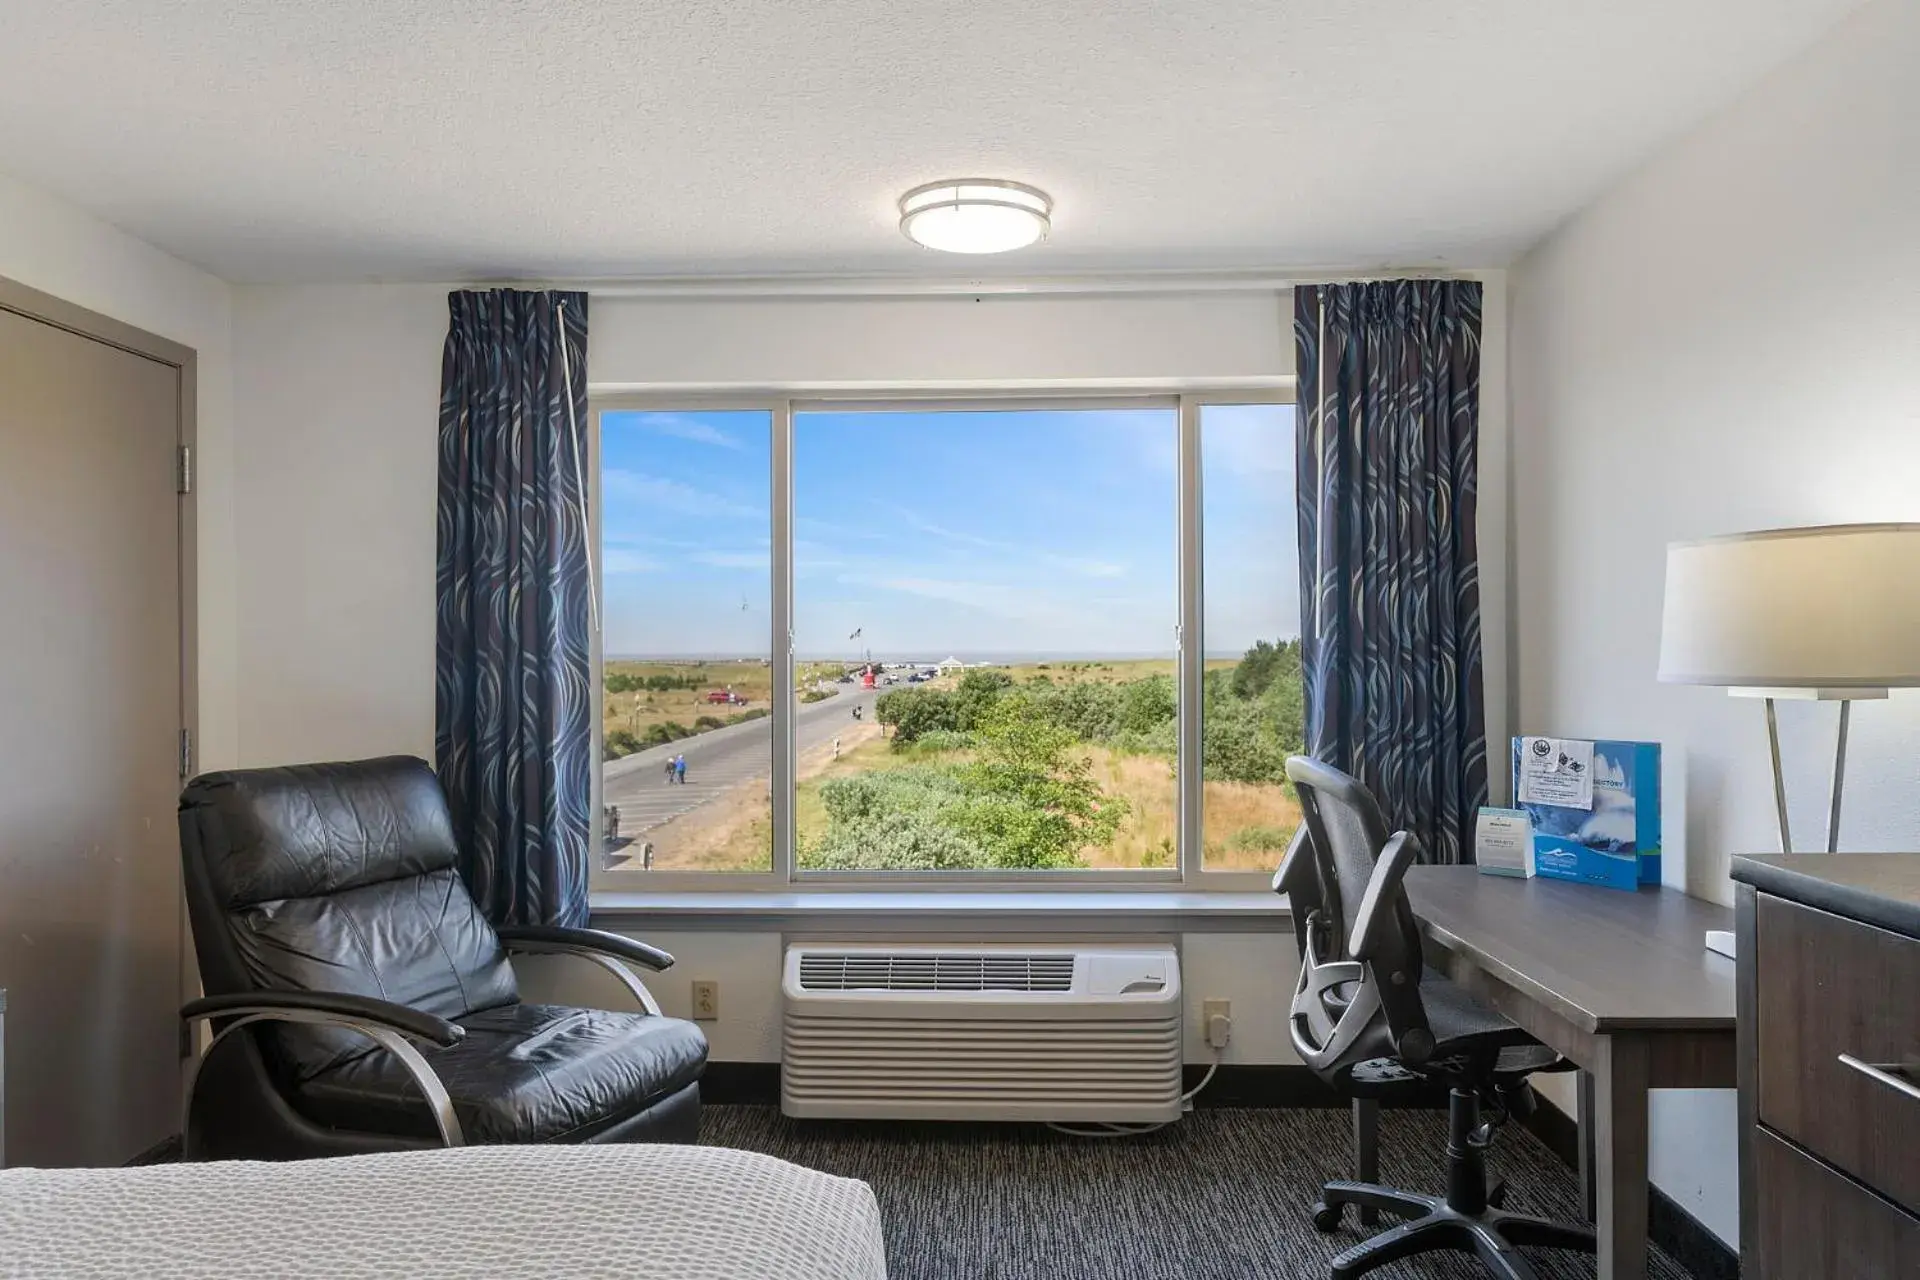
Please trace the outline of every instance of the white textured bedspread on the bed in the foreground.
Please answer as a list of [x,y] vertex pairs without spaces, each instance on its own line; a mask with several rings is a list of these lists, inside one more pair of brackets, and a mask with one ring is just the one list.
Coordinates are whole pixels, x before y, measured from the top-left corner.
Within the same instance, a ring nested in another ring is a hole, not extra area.
[[695,1146],[0,1171],[0,1276],[885,1280],[866,1182]]

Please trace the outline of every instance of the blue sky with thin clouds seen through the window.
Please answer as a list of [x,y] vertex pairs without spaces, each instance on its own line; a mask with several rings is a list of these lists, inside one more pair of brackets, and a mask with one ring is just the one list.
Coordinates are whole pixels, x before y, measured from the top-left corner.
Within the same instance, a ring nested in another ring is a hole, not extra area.
[[[1296,635],[1292,409],[1202,439],[1208,651]],[[764,413],[601,416],[609,654],[766,654],[770,459]],[[803,658],[1173,652],[1171,409],[801,413],[793,524]]]

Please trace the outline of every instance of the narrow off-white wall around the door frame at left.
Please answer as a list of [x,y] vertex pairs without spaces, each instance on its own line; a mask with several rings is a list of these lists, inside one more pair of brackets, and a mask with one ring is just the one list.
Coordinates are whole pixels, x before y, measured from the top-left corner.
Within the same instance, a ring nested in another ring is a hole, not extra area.
[[192,347],[198,361],[200,766],[238,752],[232,305],[225,282],[0,175],[0,276]]

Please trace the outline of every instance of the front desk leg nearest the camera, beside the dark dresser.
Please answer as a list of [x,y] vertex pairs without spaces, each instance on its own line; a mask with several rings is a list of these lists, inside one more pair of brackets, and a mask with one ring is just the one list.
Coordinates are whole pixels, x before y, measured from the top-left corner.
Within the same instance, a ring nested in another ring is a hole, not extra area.
[[1644,1036],[1594,1038],[1594,1228],[1601,1280],[1647,1276],[1647,1084]]

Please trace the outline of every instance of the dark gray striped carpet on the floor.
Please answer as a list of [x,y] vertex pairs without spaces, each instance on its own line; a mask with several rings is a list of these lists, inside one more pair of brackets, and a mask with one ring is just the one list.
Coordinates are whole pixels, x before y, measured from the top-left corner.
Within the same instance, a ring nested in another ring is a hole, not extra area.
[[[789,1121],[776,1107],[708,1107],[701,1140],[862,1178],[887,1228],[891,1280],[1313,1280],[1365,1234],[1321,1236],[1319,1184],[1352,1176],[1344,1109],[1194,1111],[1142,1138],[1085,1140],[1029,1125]],[[1380,1117],[1380,1174],[1444,1188],[1446,1117]],[[1492,1169],[1507,1207],[1578,1217],[1574,1176],[1507,1126]],[[1375,1228],[1377,1230],[1377,1228]],[[1594,1259],[1530,1253],[1544,1280],[1590,1280]],[[1373,1272],[1382,1280],[1484,1280],[1465,1255]],[[1653,1280],[1686,1280],[1655,1251]]]

